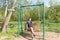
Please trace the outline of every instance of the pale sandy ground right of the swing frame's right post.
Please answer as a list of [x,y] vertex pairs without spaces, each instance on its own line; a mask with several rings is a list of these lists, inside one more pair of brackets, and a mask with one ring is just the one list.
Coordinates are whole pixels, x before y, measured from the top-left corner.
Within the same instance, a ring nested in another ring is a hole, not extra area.
[[46,40],[60,40],[60,33],[47,32]]

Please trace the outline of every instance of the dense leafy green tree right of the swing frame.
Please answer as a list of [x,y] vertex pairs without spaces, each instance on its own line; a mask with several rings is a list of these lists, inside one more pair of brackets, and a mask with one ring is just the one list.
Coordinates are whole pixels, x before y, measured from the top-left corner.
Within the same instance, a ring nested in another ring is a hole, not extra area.
[[55,5],[48,8],[46,12],[46,20],[49,22],[60,22],[60,6]]

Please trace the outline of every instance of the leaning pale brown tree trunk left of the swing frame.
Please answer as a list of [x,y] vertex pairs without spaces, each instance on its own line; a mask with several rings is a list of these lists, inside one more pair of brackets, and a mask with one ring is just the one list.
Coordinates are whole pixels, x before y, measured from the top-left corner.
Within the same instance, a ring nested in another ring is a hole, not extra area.
[[[14,9],[15,8],[16,1],[17,0],[14,0],[14,3],[12,5],[12,8],[11,9]],[[8,15],[5,17],[5,19],[4,19],[3,23],[2,23],[2,32],[6,32],[6,26],[9,23],[9,20],[11,18],[12,12],[13,12],[13,10],[10,10],[9,13],[8,13]]]

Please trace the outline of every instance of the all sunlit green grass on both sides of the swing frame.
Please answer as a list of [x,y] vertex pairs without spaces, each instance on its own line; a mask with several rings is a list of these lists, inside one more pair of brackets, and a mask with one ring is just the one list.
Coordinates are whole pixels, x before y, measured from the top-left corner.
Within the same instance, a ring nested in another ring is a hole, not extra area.
[[[23,30],[25,28],[25,22],[22,23]],[[40,24],[41,31],[43,30],[43,24]],[[0,26],[1,27],[1,26]],[[25,30],[24,30],[25,31]],[[45,31],[46,32],[56,32],[60,33],[60,23],[45,23]],[[9,23],[7,26],[7,31],[2,33],[0,30],[0,37],[1,36],[8,36],[6,40],[13,40],[12,36],[18,36],[18,23]]]

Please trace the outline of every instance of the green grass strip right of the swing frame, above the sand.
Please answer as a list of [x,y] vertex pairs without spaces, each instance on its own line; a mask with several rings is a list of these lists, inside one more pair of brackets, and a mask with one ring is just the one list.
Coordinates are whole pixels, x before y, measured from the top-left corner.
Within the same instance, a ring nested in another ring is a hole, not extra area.
[[60,23],[48,23],[46,24],[46,31],[60,33]]

